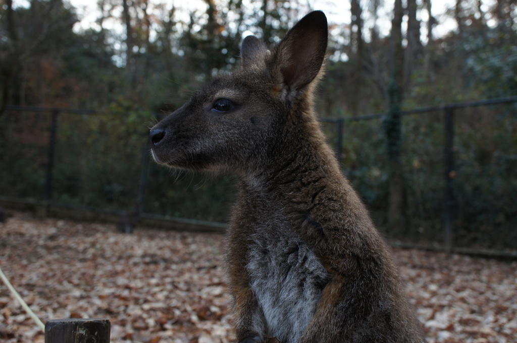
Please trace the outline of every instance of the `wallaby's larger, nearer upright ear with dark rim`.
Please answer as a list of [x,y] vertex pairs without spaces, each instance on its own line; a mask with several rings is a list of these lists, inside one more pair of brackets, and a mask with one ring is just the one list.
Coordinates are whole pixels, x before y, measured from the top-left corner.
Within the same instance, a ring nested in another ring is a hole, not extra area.
[[327,17],[312,11],[287,32],[278,47],[280,72],[291,89],[308,85],[320,72],[328,42]]

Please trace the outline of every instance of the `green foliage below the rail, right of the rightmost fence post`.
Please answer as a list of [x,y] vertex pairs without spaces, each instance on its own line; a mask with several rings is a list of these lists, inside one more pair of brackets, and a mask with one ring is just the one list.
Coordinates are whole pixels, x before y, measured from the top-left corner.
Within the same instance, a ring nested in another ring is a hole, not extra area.
[[492,106],[474,113],[468,110],[458,112],[458,176],[454,183],[458,201],[458,236],[468,246],[503,244],[507,248],[515,247],[515,105]]

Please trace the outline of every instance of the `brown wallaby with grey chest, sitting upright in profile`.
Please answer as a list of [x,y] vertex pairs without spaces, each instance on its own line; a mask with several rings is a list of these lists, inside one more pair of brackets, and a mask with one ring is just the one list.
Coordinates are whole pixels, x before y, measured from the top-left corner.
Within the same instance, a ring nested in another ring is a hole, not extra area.
[[314,113],[327,39],[321,11],[271,50],[246,37],[241,68],[151,128],[151,152],[238,177],[225,265],[239,343],[423,342],[389,248]]

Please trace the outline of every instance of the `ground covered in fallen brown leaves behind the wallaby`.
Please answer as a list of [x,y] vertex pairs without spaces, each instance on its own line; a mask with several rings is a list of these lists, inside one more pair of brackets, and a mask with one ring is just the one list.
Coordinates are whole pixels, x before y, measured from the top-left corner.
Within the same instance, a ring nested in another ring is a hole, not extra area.
[[[44,322],[108,318],[112,342],[231,342],[220,234],[0,223],[0,267]],[[515,342],[517,263],[393,250],[429,342]],[[43,342],[0,282],[0,342]]]

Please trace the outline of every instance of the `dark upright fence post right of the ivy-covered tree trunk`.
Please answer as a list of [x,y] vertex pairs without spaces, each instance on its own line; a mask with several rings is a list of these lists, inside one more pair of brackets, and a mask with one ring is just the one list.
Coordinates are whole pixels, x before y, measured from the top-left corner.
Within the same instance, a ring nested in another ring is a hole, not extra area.
[[454,107],[444,108],[445,124],[445,218],[444,245],[447,252],[452,251],[452,235],[454,232],[454,190],[452,180],[454,171]]

